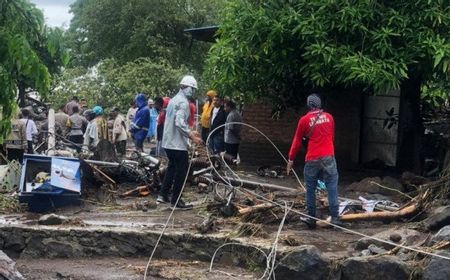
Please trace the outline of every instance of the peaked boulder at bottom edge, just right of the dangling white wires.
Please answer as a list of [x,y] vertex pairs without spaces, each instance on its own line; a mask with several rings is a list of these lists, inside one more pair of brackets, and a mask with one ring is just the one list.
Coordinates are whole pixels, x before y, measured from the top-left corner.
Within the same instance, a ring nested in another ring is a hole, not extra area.
[[321,280],[330,275],[330,261],[312,245],[303,245],[287,255],[275,270],[277,279]]

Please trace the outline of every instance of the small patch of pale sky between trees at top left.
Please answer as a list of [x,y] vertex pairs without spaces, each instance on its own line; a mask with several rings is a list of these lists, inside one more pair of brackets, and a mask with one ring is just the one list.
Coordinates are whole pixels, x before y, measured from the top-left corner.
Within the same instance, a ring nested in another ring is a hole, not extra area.
[[75,0],[30,0],[30,2],[44,11],[47,25],[69,27],[72,18],[72,14],[69,14],[69,5]]

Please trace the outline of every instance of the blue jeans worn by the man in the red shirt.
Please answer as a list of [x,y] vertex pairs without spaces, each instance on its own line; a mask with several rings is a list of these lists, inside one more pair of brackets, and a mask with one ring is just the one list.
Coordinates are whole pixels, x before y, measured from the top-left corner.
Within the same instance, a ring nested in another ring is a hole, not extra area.
[[328,203],[332,218],[339,217],[339,200],[337,183],[339,174],[334,156],[322,157],[305,162],[304,176],[306,182],[306,207],[308,215],[316,216],[317,180],[322,179],[327,186]]

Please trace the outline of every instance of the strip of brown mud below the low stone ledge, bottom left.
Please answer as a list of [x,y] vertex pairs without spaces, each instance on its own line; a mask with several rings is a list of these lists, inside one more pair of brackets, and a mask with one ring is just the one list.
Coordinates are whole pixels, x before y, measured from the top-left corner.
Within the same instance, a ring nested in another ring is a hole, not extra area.
[[[140,280],[147,262],[145,258],[19,259],[17,268],[28,280]],[[258,279],[257,274],[223,265],[215,265],[209,272],[209,263],[199,261],[153,260],[147,279],[253,280]]]

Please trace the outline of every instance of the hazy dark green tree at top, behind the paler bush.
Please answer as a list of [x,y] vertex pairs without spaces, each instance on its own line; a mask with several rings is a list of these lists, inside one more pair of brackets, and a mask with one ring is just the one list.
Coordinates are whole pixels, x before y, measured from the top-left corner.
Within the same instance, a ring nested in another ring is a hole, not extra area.
[[140,57],[201,68],[208,45],[193,43],[183,30],[216,23],[224,1],[77,0],[68,32],[73,65],[119,64]]

